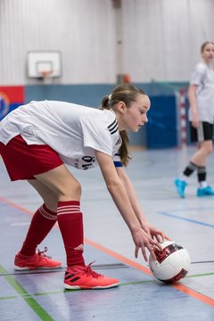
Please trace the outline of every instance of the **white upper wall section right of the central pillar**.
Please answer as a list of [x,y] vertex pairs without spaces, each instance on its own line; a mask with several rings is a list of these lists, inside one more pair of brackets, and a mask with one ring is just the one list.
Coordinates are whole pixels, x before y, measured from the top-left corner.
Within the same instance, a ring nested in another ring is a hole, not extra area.
[[213,0],[123,0],[124,70],[133,81],[186,81],[214,41]]

